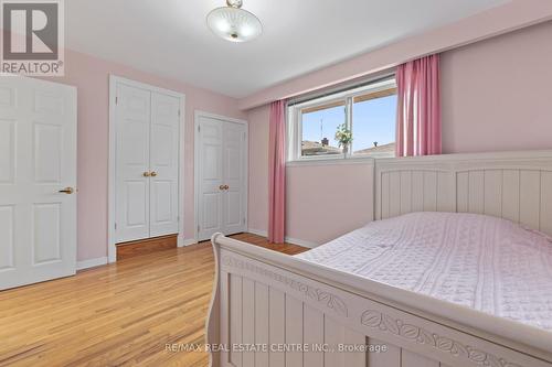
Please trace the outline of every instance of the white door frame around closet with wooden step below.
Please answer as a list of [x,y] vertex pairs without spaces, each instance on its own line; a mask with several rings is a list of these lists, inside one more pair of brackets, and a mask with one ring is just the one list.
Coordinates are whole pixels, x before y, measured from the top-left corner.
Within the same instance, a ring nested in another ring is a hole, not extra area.
[[185,95],[179,91],[157,87],[150,84],[128,79],[114,74],[109,74],[109,163],[108,163],[108,184],[107,184],[107,259],[108,262],[117,261],[116,246],[116,114],[117,106],[117,84],[123,83],[130,87],[148,89],[180,99],[180,119],[179,119],[179,190],[178,190],[178,246],[184,245],[184,138],[185,138]]

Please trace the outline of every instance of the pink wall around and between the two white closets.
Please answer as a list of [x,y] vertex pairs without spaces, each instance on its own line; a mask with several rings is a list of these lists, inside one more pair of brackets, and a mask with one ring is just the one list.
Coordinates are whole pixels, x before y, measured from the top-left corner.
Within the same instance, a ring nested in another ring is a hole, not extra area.
[[242,119],[246,117],[237,109],[237,101],[233,98],[67,51],[65,76],[51,79],[76,86],[78,93],[78,260],[107,256],[109,74],[185,94],[185,238],[193,238],[194,110]]

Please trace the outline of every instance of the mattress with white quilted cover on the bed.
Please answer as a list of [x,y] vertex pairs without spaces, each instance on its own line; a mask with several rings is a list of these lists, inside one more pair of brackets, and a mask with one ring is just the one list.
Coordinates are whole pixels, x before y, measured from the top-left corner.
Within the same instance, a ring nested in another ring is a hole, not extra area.
[[506,219],[412,213],[296,257],[552,331],[552,239]]

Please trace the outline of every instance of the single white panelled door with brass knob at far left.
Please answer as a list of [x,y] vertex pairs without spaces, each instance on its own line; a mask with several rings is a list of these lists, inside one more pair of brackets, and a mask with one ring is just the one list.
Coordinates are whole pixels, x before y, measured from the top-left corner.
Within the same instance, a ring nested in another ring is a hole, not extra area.
[[75,273],[76,88],[0,77],[0,289]]

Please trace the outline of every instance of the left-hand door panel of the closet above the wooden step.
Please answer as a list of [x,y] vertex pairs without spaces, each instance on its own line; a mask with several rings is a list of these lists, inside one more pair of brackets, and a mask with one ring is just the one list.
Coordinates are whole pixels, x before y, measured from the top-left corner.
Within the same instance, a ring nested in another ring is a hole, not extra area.
[[149,237],[151,94],[119,84],[116,112],[117,242]]

